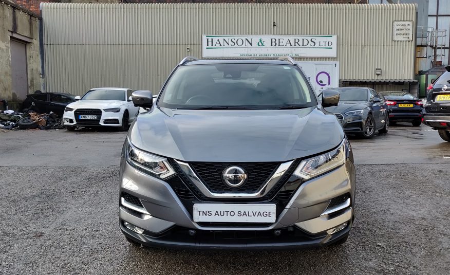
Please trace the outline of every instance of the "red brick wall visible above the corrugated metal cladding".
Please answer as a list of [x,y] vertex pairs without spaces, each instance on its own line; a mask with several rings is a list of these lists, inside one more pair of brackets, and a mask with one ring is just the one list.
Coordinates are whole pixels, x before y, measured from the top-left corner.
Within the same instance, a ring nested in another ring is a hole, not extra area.
[[[41,2],[53,3],[322,3],[322,4],[348,4],[358,0],[14,0],[17,5],[40,14]],[[366,4],[368,0],[359,3]]]

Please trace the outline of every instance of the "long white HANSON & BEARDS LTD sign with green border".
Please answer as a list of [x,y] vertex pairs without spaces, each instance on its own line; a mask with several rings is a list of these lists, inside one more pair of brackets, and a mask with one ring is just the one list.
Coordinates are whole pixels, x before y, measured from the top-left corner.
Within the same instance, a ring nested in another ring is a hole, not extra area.
[[203,35],[202,57],[336,57],[336,35]]

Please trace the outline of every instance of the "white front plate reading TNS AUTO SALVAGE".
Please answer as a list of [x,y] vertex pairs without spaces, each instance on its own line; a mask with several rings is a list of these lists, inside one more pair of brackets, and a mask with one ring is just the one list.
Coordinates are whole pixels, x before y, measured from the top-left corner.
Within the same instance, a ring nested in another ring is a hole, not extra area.
[[274,223],[273,204],[194,204],[194,222]]

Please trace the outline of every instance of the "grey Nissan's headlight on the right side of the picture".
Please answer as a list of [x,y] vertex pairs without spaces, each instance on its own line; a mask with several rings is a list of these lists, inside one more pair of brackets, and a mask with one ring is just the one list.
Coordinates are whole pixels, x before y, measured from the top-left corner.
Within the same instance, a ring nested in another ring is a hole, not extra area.
[[336,149],[322,155],[302,160],[294,175],[303,179],[310,179],[344,165],[350,146],[344,139]]

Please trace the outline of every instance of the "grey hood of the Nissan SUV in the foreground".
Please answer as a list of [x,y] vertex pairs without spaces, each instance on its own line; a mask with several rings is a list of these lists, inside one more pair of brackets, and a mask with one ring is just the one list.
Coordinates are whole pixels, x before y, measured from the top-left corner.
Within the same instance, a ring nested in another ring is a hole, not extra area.
[[344,138],[332,114],[293,110],[171,110],[140,114],[128,132],[139,149],[184,161],[287,161],[335,148]]

